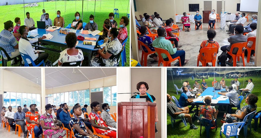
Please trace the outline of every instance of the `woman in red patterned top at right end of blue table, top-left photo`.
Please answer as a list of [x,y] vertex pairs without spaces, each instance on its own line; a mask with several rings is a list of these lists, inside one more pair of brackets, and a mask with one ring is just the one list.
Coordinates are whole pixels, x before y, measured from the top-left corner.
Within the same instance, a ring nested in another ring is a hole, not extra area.
[[127,25],[129,24],[129,19],[126,16],[122,16],[120,19],[120,28],[118,39],[122,43],[128,37]]

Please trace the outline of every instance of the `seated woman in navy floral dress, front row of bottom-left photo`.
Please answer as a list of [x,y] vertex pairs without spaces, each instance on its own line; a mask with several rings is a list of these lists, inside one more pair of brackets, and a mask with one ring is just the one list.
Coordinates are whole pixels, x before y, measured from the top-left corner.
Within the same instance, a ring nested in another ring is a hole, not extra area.
[[90,131],[84,123],[84,120],[80,117],[82,115],[82,108],[79,105],[75,105],[73,108],[74,116],[71,118],[69,125],[74,132],[76,138],[98,138]]

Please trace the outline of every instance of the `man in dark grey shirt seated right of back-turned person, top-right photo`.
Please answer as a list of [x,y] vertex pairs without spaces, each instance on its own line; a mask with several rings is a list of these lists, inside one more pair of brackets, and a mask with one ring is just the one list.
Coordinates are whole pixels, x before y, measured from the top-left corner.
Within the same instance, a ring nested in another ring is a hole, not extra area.
[[[240,18],[240,19],[241,19],[241,18]],[[240,19],[239,19],[239,20],[240,20]],[[239,20],[238,20],[238,21],[239,21]],[[220,48],[220,50],[222,50],[223,52],[225,52],[225,51],[230,51],[230,48],[231,48],[232,44],[234,44],[234,43],[241,43],[241,42],[247,42],[247,37],[242,34],[243,31],[244,31],[244,27],[243,27],[242,25],[235,25],[235,35],[234,35],[234,36],[230,36],[230,37],[227,39],[228,42],[230,42],[230,45],[222,46],[222,47]],[[234,48],[234,49],[232,49],[232,50],[233,50],[233,51],[232,51],[233,54],[236,54],[236,53],[238,52],[238,48]],[[229,60],[227,61],[227,64],[230,64],[230,66],[231,66],[231,65],[233,66],[233,64],[232,64],[232,61],[233,61],[232,56],[230,56],[229,54],[227,54],[227,58],[229,59]]]

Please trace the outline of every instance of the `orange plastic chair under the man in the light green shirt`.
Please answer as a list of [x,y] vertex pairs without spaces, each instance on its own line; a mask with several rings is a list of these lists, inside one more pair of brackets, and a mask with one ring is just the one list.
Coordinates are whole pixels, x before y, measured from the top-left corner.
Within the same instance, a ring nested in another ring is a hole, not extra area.
[[[154,47],[155,48],[155,47]],[[162,62],[163,66],[171,66],[171,62],[175,61],[175,60],[179,60],[179,66],[181,66],[181,61],[180,61],[180,57],[176,57],[174,59],[172,59],[172,57],[170,56],[170,54],[168,53],[167,50],[162,49],[162,48],[155,48],[155,51],[158,53],[159,56],[159,64],[158,66],[160,66],[160,63]],[[161,53],[164,53],[168,56],[168,61],[164,61],[163,57],[161,56]]]

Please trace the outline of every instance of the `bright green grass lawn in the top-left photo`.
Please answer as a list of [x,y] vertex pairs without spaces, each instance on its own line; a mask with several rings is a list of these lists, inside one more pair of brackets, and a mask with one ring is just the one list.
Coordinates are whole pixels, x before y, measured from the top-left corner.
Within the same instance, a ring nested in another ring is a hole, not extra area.
[[[115,2],[115,8],[119,9],[119,18],[114,18],[114,20],[118,23],[120,23],[120,18],[122,16],[127,15],[127,9],[128,13],[130,8],[128,8],[128,2],[129,0],[116,0]],[[76,8],[75,8],[75,3],[76,3]],[[72,20],[75,19],[74,14],[76,11],[78,11],[81,15],[81,19],[83,22],[88,23],[89,22],[89,17],[90,14],[94,15],[94,3],[95,1],[89,0],[86,1],[84,0],[83,3],[83,15],[82,15],[82,1],[66,1],[66,9],[65,9],[65,1],[57,1],[56,6],[55,6],[55,1],[49,1],[49,2],[39,2],[38,7],[27,7],[25,8],[25,13],[30,12],[30,17],[34,19],[34,22],[40,20],[40,17],[42,15],[42,9],[45,9],[46,13],[49,13],[49,18],[52,19],[52,22],[54,21],[54,18],[56,17],[56,11],[60,10],[61,11],[61,16],[64,17],[65,21],[65,26],[68,24],[72,23]],[[100,4],[101,4],[101,9],[100,9]],[[26,5],[26,4],[25,4]],[[88,5],[88,6],[87,6]],[[55,8],[56,7],[56,8]],[[98,1],[96,0],[96,6],[95,6],[95,17],[94,17],[94,22],[98,24],[98,30],[103,29],[103,24],[104,20],[109,18],[109,13],[113,12],[114,9],[114,1],[112,0],[102,0]],[[19,17],[21,20],[21,25],[24,25],[24,8],[23,4],[16,4],[16,5],[5,5],[5,6],[0,6],[0,29],[4,29],[4,22],[11,20],[14,22],[15,17]],[[83,18],[82,18],[83,17]],[[37,27],[37,24],[35,25]],[[128,30],[128,36],[130,36],[130,25],[127,26]],[[60,48],[57,46],[46,46],[48,48],[53,48],[53,49],[58,49],[58,50],[63,50],[65,48]],[[52,52],[45,50],[45,52],[49,53],[48,59],[51,60],[52,62],[55,62],[59,56],[60,53],[57,52]],[[86,56],[87,53],[84,53]],[[127,44],[126,44],[126,58],[127,62],[125,63],[125,66],[130,66],[130,40],[128,39]],[[85,58],[87,60],[87,58]],[[83,62],[82,66],[87,66],[87,61]],[[11,61],[7,63],[7,66],[10,66]],[[121,60],[119,62],[119,65],[121,66]],[[20,64],[16,64],[14,66],[20,66]]]

